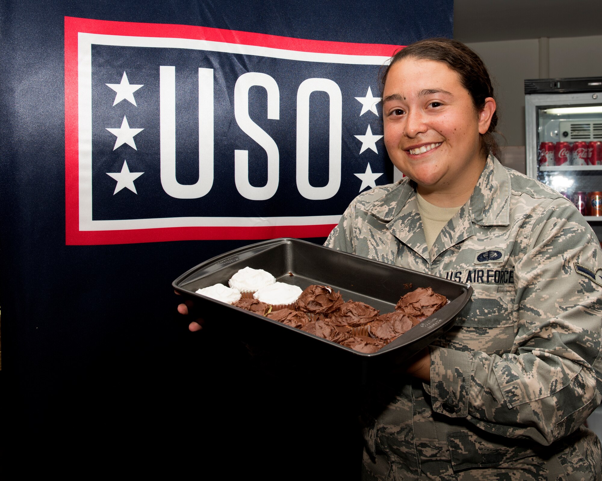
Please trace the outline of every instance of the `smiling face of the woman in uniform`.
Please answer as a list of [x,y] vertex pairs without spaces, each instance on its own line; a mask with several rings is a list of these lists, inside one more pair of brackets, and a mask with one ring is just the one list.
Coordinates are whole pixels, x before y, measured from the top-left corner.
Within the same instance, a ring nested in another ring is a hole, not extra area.
[[[479,180],[495,100],[477,112],[458,73],[433,60],[406,57],[393,64],[383,91],[385,146],[393,164],[436,205],[462,205]],[[434,196],[434,197],[433,197]]]

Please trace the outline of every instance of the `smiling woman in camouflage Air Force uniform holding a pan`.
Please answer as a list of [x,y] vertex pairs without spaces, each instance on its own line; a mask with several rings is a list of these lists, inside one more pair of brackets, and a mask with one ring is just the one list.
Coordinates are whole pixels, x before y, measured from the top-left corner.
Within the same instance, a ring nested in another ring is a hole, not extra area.
[[602,391],[597,237],[570,201],[495,159],[491,81],[464,44],[400,51],[382,107],[406,177],[359,195],[325,245],[474,294],[374,391],[364,479],[600,479],[600,441],[583,426]]

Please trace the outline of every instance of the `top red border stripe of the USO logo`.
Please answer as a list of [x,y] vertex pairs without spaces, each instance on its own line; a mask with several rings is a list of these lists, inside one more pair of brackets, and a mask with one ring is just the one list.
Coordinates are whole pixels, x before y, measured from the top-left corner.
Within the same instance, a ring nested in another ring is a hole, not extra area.
[[343,41],[280,37],[279,35],[257,34],[196,25],[114,22],[112,20],[80,19],[77,17],[65,17],[65,30],[67,28],[91,34],[190,38],[191,40],[223,41],[226,43],[256,45],[300,52],[377,55],[379,57],[392,57],[397,50],[403,47],[401,45],[382,43],[349,43]]

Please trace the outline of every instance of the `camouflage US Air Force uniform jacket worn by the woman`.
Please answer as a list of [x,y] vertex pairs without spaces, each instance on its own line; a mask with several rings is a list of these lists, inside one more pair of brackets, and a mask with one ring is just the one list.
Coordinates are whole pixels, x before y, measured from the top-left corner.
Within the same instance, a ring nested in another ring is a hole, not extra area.
[[360,194],[324,245],[474,288],[430,385],[374,391],[365,479],[601,478],[583,422],[602,400],[602,252],[570,201],[489,156],[430,251],[407,178]]

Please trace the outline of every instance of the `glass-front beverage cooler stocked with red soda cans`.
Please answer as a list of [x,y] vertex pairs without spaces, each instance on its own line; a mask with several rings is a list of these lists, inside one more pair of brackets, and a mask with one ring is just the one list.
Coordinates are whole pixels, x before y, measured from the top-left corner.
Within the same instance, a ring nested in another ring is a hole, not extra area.
[[524,81],[527,175],[569,198],[602,238],[602,77]]

